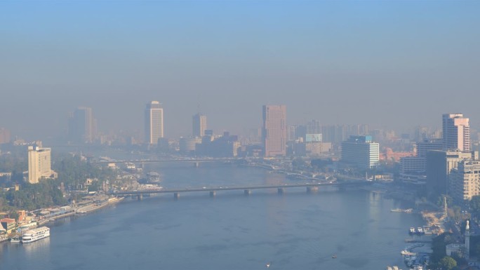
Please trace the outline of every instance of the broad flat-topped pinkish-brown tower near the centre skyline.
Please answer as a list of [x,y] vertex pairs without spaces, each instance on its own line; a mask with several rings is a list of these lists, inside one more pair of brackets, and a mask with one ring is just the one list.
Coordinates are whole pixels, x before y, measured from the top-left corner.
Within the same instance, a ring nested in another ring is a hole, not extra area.
[[286,106],[264,105],[262,141],[265,156],[285,156],[286,135]]

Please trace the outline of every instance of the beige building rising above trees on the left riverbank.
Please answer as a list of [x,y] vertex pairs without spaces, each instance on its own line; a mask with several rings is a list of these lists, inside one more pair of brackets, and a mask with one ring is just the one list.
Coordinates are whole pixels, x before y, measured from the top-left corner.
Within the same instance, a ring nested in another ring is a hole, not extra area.
[[28,147],[28,182],[36,184],[42,178],[55,177],[51,169],[51,149]]

